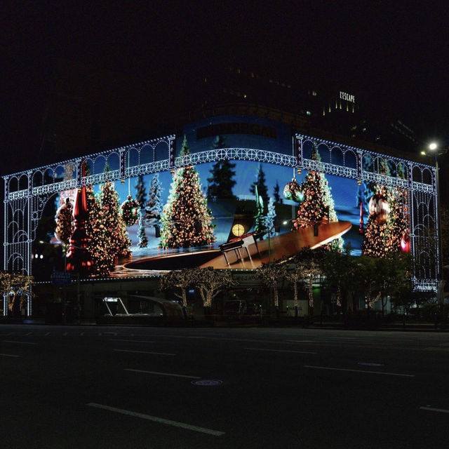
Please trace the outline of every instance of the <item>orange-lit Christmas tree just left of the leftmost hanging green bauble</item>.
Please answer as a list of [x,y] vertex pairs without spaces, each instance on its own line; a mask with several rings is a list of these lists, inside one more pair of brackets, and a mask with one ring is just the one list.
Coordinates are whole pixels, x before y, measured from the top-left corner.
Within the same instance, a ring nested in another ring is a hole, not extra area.
[[114,257],[128,257],[131,241],[126,231],[126,225],[120,214],[119,194],[112,182],[107,181],[100,187],[100,203],[103,211],[103,226],[105,227],[105,241],[107,250]]

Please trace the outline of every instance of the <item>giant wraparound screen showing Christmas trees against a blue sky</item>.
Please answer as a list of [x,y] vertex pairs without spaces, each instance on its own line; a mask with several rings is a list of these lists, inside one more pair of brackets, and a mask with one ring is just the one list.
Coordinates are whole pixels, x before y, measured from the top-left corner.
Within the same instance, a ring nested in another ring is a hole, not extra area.
[[[185,145],[182,152],[188,151]],[[49,243],[68,248],[76,194],[60,192],[41,220],[40,235]],[[342,250],[350,243],[354,255],[375,256],[408,250],[406,195],[253,161],[201,163],[88,186],[88,276],[255,269],[306,246]]]

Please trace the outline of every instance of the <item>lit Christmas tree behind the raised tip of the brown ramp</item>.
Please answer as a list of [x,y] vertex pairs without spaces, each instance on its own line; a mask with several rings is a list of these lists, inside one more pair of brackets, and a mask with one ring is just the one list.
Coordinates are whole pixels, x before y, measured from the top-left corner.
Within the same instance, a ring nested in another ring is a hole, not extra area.
[[[320,155],[313,148],[311,159],[321,161]],[[309,170],[301,185],[304,201],[297,210],[297,218],[293,220],[293,229],[313,226],[318,222],[337,222],[334,200],[326,176],[318,170]],[[343,239],[340,237],[330,242],[328,248],[343,250]]]

